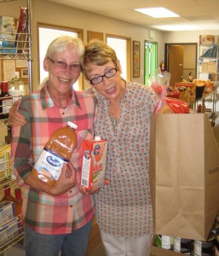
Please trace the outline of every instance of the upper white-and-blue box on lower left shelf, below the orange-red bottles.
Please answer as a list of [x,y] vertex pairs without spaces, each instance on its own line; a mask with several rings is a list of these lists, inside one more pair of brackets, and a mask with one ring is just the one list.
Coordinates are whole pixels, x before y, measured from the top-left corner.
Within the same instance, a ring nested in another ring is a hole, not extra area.
[[0,225],[8,223],[14,217],[14,202],[2,201],[0,203]]

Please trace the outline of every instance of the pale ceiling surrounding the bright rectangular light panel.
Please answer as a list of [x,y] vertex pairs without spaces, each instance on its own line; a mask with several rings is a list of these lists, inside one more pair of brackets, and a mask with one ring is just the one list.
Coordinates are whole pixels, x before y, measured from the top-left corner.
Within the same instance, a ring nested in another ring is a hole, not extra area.
[[[160,31],[219,30],[219,0],[48,0]],[[134,9],[164,7],[180,18],[155,19]]]

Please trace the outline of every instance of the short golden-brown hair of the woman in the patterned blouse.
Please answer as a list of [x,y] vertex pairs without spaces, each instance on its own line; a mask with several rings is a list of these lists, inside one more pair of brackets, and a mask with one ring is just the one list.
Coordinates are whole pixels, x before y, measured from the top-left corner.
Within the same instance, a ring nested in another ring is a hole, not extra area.
[[108,44],[93,39],[85,45],[84,55],[81,59],[81,66],[83,73],[86,76],[86,72],[89,71],[88,64],[93,63],[97,66],[105,65],[108,61],[113,61],[117,65],[117,55],[114,49],[112,49]]

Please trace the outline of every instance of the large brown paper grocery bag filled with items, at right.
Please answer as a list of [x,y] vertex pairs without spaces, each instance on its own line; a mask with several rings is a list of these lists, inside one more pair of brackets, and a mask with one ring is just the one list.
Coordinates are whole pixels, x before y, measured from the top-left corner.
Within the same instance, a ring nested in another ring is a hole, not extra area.
[[206,113],[153,114],[156,234],[206,240],[219,209],[219,149]]

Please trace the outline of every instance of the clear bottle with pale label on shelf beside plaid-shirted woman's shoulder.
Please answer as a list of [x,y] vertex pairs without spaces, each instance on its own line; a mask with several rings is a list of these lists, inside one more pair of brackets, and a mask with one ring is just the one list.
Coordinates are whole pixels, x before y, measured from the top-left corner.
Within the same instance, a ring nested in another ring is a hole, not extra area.
[[9,81],[9,95],[13,97],[13,103],[25,95],[24,82],[20,79],[19,72],[14,72],[14,77]]

